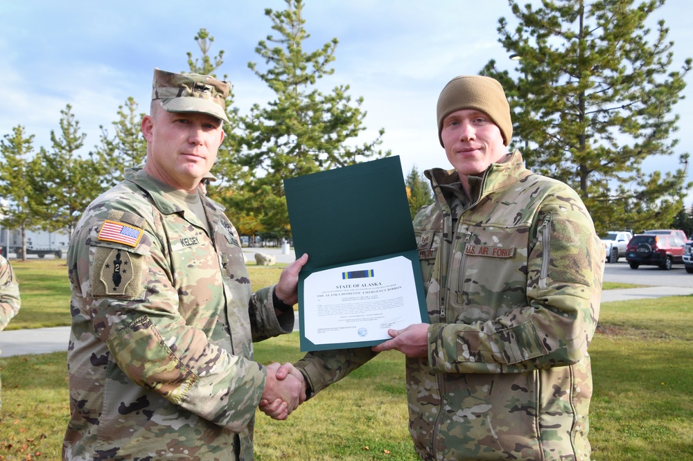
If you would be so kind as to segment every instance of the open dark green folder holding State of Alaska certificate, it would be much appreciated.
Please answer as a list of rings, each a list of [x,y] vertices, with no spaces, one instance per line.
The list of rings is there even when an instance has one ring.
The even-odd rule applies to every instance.
[[[428,321],[398,156],[285,179],[301,350],[364,347]]]

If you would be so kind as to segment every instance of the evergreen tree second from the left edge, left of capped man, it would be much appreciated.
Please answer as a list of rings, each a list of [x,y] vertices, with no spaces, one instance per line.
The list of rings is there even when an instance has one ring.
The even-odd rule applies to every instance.
[[[65,229],[72,235],[82,212],[103,190],[103,168],[91,157],[79,156],[87,134],[80,133],[71,105],[60,114],[60,136],[51,130],[53,149],[39,152],[41,170],[37,175],[45,188],[42,214],[46,230]]]

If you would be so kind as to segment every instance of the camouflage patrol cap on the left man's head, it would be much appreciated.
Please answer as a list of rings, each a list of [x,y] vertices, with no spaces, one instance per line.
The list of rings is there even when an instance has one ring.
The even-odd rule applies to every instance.
[[[229,82],[199,73],[173,73],[154,69],[152,100],[160,99],[168,112],[200,112],[229,122],[226,98]]]

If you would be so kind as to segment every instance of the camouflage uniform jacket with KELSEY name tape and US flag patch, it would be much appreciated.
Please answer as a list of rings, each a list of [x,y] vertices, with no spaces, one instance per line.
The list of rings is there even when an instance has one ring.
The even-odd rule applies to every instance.
[[[252,341],[294,316],[274,314],[273,287],[251,292],[236,229],[202,201],[211,235],[128,170],[80,219],[64,459],[252,460],[266,377]]]

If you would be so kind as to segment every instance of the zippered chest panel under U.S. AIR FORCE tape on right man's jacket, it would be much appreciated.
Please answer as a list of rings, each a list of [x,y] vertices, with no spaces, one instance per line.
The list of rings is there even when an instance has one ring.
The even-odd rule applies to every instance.
[[[527,232],[516,227],[464,226],[450,273],[456,321],[486,321],[527,302]]]

